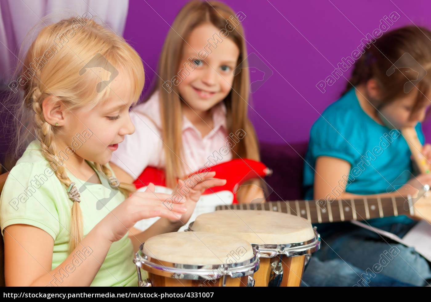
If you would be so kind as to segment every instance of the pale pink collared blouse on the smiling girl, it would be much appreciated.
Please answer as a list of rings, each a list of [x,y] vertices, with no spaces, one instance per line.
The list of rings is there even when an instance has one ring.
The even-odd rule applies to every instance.
[[[220,152],[221,148],[227,146],[228,138],[225,104],[220,102],[211,110],[214,127],[205,137],[202,137],[200,131],[183,116],[182,160],[187,174],[196,172],[204,166],[214,166],[232,159],[230,149],[227,155]],[[113,152],[111,161],[137,179],[147,166],[161,169],[166,166],[162,148],[159,92],[155,92],[147,102],[134,107],[130,111],[130,117],[135,132],[125,136],[124,142]]]

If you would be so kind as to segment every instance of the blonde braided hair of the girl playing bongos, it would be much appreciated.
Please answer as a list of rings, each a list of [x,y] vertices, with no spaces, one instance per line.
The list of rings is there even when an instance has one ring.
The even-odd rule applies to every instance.
[[[106,101],[111,92],[112,82],[100,93],[97,92],[96,87],[100,79],[109,78],[111,75],[109,68],[106,70],[98,65],[97,67],[102,67],[98,75],[94,72],[80,75],[81,68],[84,68],[98,54],[103,55],[115,68],[122,68],[128,73],[132,83],[134,103],[141,95],[145,79],[141,58],[122,37],[104,28],[92,18],[84,21],[84,23],[82,20],[77,22],[76,18],[67,18],[42,28],[26,52],[23,65],[17,68],[17,74],[23,83],[20,87],[23,95],[21,93],[16,112],[17,119],[20,121],[19,128],[16,130],[17,141],[12,162],[16,162],[22,149],[34,139],[35,133],[44,157],[66,190],[69,189],[71,180],[57,155],[59,150],[55,140],[57,133],[62,131],[62,127],[53,126],[44,119],[42,110],[44,99],[52,98],[54,101],[62,102],[71,111],[84,106],[94,108]],[[68,33],[67,37],[65,33]],[[65,38],[63,41],[66,42],[60,44],[62,38]],[[57,47],[54,46],[55,43]],[[38,68],[34,68],[34,61],[37,58],[42,60],[39,61]],[[17,77],[19,83],[20,80]],[[111,184],[118,185],[118,180],[112,178],[112,171],[106,164],[95,163],[95,166],[106,174]],[[126,198],[135,191],[133,185],[125,183],[119,184],[119,189]],[[80,200],[74,198],[71,200],[73,206],[69,253],[83,238]]]

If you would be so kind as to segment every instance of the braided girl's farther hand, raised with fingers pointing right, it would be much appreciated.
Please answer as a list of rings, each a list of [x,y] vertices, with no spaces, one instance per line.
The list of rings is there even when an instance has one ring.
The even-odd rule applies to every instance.
[[[178,203],[179,200],[185,198],[184,205],[187,212],[181,215],[180,221],[178,219],[169,219],[169,222],[184,225],[188,222],[193,214],[197,201],[202,193],[212,187],[218,187],[226,184],[226,179],[213,178],[215,172],[197,173],[185,179],[179,179],[178,184],[172,193],[173,203]]]

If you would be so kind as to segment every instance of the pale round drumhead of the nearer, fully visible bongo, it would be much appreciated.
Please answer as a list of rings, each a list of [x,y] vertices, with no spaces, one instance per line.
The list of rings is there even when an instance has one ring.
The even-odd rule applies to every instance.
[[[246,240],[206,232],[156,235],[144,242],[142,253],[160,261],[184,265],[229,265],[254,256],[253,247]]]

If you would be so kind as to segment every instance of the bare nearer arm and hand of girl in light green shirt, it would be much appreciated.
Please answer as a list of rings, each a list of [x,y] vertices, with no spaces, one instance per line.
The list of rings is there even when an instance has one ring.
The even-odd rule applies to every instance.
[[[132,194],[97,223],[66,260],[53,270],[54,240],[46,231],[25,224],[7,226],[4,230],[6,285],[89,286],[112,243],[124,237],[137,221],[159,216],[176,222],[181,213],[187,211],[185,200],[172,204],[171,210],[168,210],[162,203],[168,198],[168,194],[154,192]],[[71,265],[73,257],[77,257],[76,252],[84,247],[88,247],[91,254],[86,255],[80,265]],[[71,271],[73,267],[75,269]],[[54,274],[62,279],[61,284],[53,281]]]

